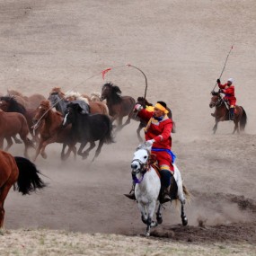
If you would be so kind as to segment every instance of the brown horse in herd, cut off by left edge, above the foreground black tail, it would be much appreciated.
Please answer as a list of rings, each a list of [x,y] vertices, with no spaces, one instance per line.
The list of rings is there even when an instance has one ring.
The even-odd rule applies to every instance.
[[[12,138],[16,134],[19,134],[24,143],[24,155],[28,157],[28,148],[30,146],[34,147],[31,140],[28,138],[29,128],[25,117],[16,112],[4,112],[0,110],[0,148],[4,146],[4,138],[7,140],[7,146],[5,151],[7,151],[12,145]]]

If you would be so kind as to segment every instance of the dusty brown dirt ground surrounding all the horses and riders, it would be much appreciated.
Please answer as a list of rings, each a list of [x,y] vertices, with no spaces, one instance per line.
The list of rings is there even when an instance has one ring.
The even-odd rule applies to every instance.
[[[49,187],[26,197],[9,193],[0,254],[255,255],[255,10],[252,0],[2,1],[0,93],[48,97],[58,86],[90,94],[111,81],[137,99],[145,78],[125,65],[141,68],[148,101],[172,109],[172,150],[193,198],[188,226],[167,206],[152,238],[139,236],[146,227],[137,203],[123,196],[138,145],[132,121],[93,163],[94,151],[86,161],[62,163],[61,146],[47,148],[47,160],[36,164]],[[248,124],[231,135],[234,124],[221,123],[213,136],[210,92],[232,45],[222,82],[234,78]]]

